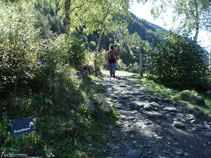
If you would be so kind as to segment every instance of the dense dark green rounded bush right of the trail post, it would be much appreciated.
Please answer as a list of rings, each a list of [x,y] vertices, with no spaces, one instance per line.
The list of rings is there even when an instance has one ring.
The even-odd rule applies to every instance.
[[[208,67],[203,49],[195,42],[170,32],[167,39],[149,53],[149,66],[160,81],[183,89],[204,88],[201,86]]]

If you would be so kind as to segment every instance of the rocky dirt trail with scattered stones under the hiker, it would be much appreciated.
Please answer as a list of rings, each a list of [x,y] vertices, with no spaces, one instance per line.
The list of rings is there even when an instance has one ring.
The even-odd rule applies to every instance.
[[[148,94],[133,75],[105,76],[121,121],[110,126],[105,158],[211,158],[211,120]],[[152,99],[153,98],[153,99]]]

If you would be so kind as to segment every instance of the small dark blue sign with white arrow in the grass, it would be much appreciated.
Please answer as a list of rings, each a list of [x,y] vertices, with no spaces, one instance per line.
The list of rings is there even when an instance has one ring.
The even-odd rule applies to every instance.
[[[21,135],[34,131],[34,120],[32,118],[24,118],[11,122],[11,129],[14,135]]]

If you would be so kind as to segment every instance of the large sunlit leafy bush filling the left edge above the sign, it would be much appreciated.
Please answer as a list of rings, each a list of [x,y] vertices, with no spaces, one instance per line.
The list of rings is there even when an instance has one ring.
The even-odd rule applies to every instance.
[[[1,99],[39,89],[48,91],[49,78],[61,63],[54,39],[40,38],[39,29],[34,27],[36,19],[29,10],[0,4]]]

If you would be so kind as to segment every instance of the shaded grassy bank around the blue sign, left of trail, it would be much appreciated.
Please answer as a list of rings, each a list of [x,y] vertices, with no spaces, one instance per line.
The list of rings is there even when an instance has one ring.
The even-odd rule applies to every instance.
[[[64,75],[64,72],[68,74]],[[16,109],[5,111],[0,120],[0,152],[28,153],[46,157],[52,152],[60,158],[100,158],[106,151],[109,125],[115,127],[118,120],[115,109],[111,114],[93,112],[83,102],[93,99],[95,93],[104,93],[105,87],[96,84],[98,78],[88,75],[79,77],[77,70],[68,68],[58,72],[50,82],[51,93],[33,93],[19,96]],[[16,137],[11,133],[9,122],[33,117],[36,130]],[[64,131],[77,127],[70,136]],[[50,150],[50,148],[53,151]]]

